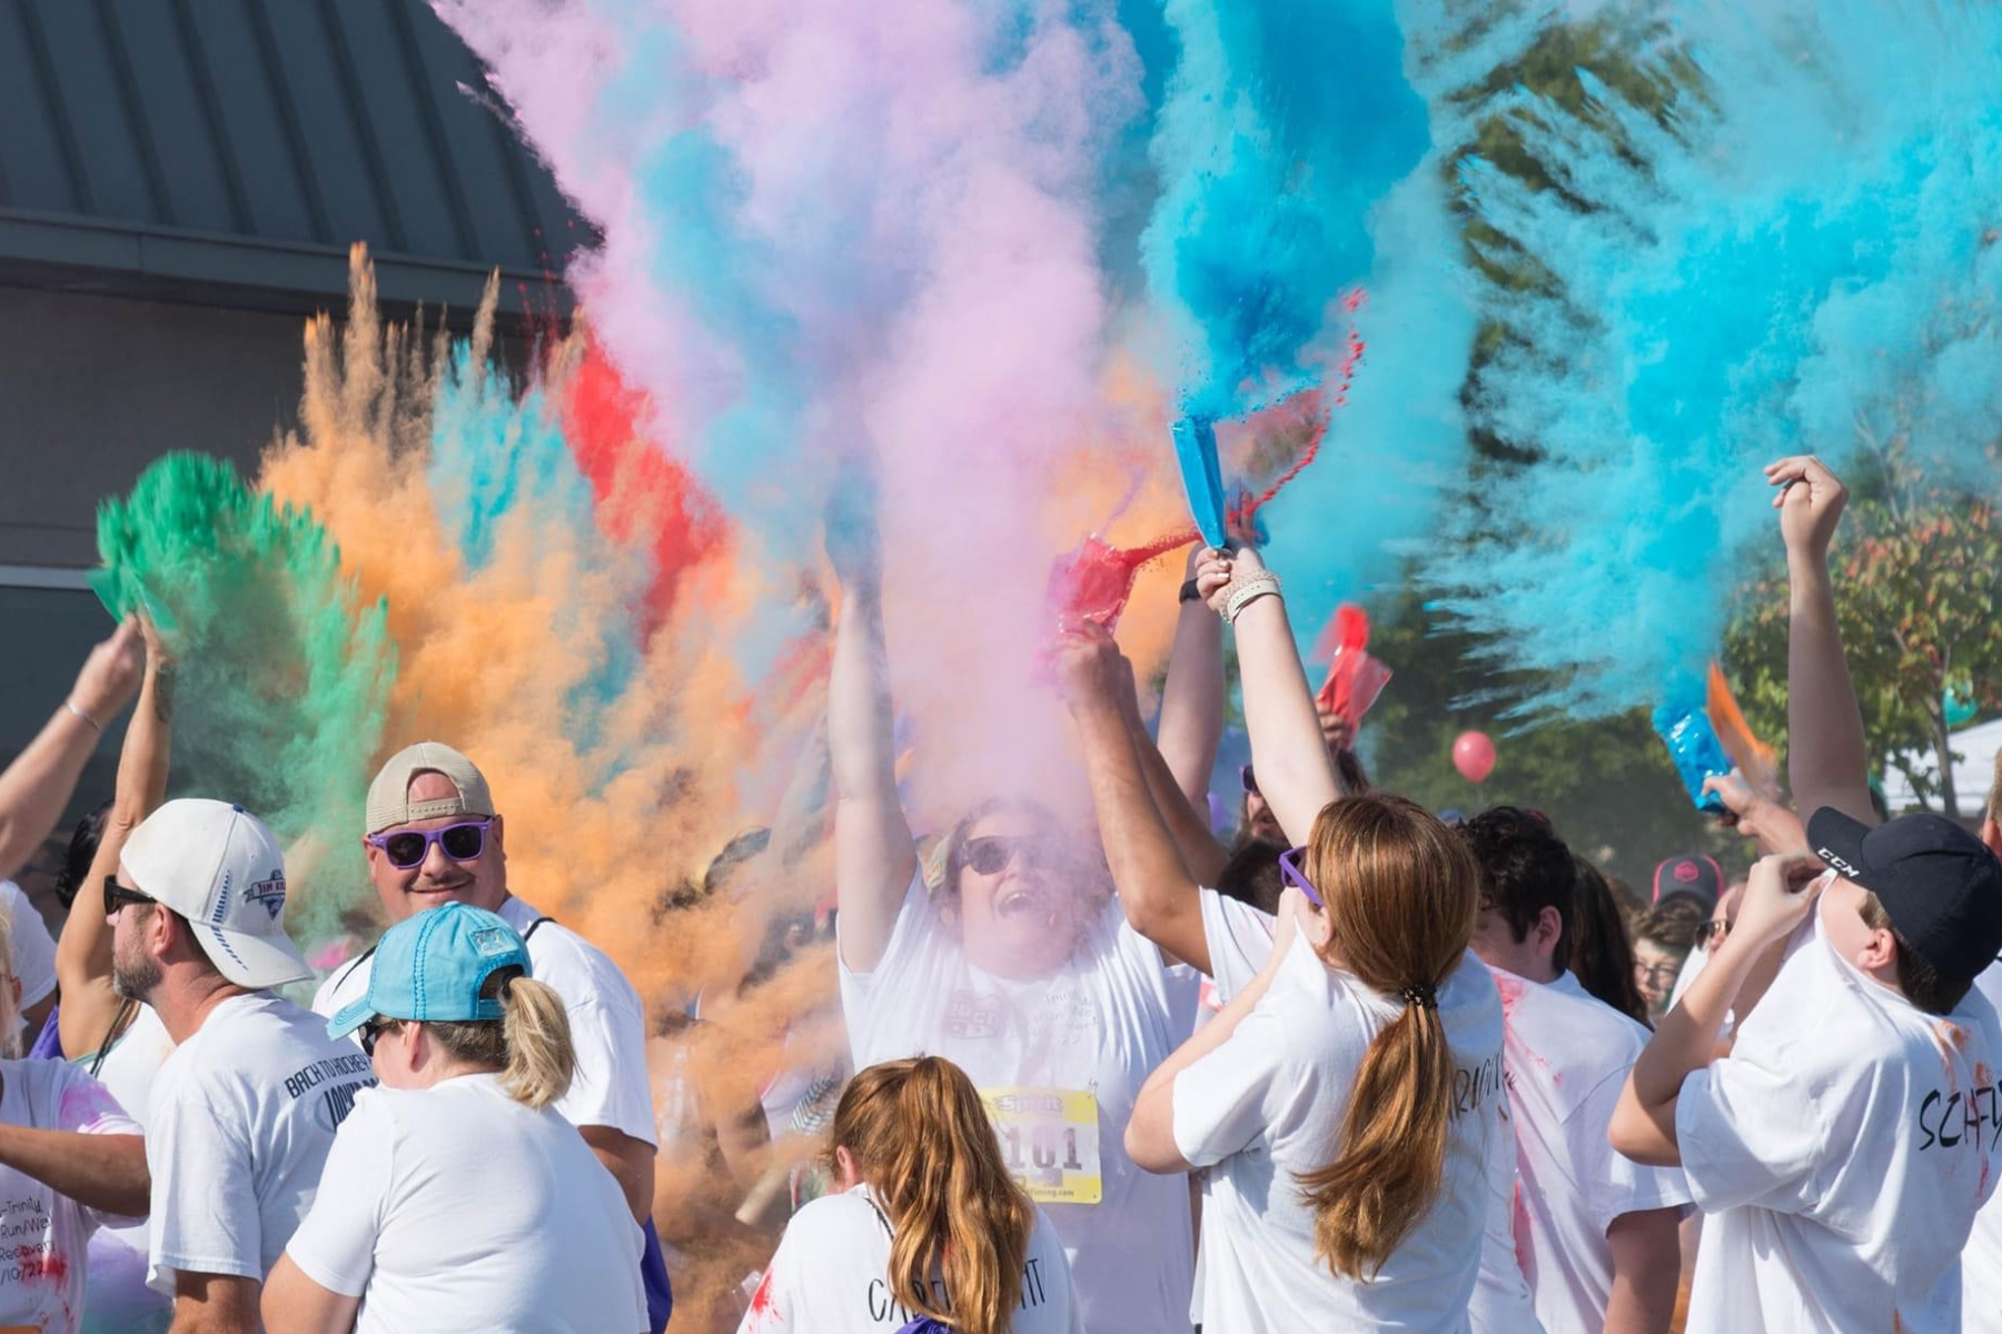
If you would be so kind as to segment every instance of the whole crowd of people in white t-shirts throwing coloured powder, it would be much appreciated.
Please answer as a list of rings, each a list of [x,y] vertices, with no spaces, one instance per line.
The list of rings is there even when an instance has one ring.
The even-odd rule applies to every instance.
[[[701,1238],[663,1246],[657,1170],[697,1154],[763,1172],[713,1224],[769,1240],[747,1334],[2002,1334],[2002,774],[1978,832],[1884,818],[1844,488],[1768,476],[1792,800],[1714,778],[1756,862],[1670,858],[1650,894],[1534,810],[1371,790],[1251,546],[1191,554],[1155,726],[1111,634],[1053,646],[1089,830],[993,794],[921,838],[881,552],[831,534],[835,904],[737,994],[831,930],[847,1052],[763,1106],[667,1096],[657,1044],[701,1006],[515,896],[494,790],[442,742],[366,792],[386,930],[288,1000],[314,970],[278,840],[228,794],[164,800],[174,664],[124,624],[0,774],[12,870],[138,700],[60,938],[0,918],[0,1036],[36,1038],[0,1060],[0,1328],[659,1332]],[[1225,630],[1253,758],[1227,840]],[[787,1132],[815,1152],[773,1170]]]

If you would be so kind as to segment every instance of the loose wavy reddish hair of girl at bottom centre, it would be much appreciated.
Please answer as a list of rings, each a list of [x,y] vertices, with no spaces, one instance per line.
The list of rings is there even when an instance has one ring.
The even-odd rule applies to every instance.
[[[857,1074],[835,1108],[845,1148],[889,1216],[891,1294],[963,1334],[1007,1334],[1021,1306],[1035,1206],[1001,1162],[973,1080],[943,1056]],[[931,1274],[945,1276],[941,1308]]]

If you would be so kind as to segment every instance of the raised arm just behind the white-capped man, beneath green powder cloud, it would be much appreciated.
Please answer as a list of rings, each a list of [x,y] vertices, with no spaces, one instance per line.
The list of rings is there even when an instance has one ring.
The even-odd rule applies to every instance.
[[[140,626],[146,642],[146,674],[138,708],[126,726],[118,752],[118,788],[104,816],[90,874],[76,890],[78,908],[62,922],[56,942],[56,980],[62,986],[58,1028],[62,1050],[82,1056],[98,1050],[118,1018],[120,998],[112,990],[112,928],[100,910],[104,876],[118,870],[126,838],[166,798],[166,766],[174,738],[174,662],[150,622]]]

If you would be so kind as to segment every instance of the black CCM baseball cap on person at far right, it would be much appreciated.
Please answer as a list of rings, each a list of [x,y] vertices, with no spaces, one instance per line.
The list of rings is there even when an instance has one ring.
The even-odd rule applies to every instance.
[[[1808,820],[1814,854],[1884,904],[1892,926],[1940,976],[1972,982],[2002,952],[2002,862],[1946,816],[1868,828],[1832,806]]]

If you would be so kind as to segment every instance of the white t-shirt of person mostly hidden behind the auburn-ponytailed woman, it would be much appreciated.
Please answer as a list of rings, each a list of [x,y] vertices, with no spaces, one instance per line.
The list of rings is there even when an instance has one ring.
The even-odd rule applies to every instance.
[[[1203,890],[1201,904],[1217,1000],[1229,1004],[1271,958],[1273,916],[1215,890]],[[1504,1148],[1487,1158],[1487,1216],[1481,1220],[1479,1276],[1465,1302],[1467,1322],[1473,1334],[1540,1334],[1544,1326],[1536,1318],[1530,1280],[1516,1262],[1516,1158],[1506,1148],[1514,1138],[1508,1098],[1493,1098],[1487,1114],[1499,1126],[1495,1142]]]

